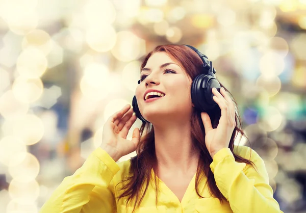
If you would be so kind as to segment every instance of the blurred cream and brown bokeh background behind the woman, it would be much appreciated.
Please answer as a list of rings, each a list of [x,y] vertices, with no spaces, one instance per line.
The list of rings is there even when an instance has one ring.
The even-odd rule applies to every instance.
[[[0,0],[0,212],[38,212],[132,104],[142,57],[171,43],[213,61],[239,145],[281,209],[306,212],[306,0]]]

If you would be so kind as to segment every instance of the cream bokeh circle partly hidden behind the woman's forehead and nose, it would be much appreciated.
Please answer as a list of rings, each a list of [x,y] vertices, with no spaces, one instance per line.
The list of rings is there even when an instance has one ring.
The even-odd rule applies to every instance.
[[[140,66],[141,63],[139,61],[132,61],[126,64],[122,70],[122,84],[133,92],[135,92],[138,85],[137,82],[140,79]]]

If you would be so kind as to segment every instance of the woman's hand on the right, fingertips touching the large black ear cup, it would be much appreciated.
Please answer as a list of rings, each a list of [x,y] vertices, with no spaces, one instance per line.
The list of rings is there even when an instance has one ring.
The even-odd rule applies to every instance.
[[[236,126],[234,101],[223,87],[220,89],[220,92],[213,88],[213,99],[221,109],[221,117],[217,128],[212,127],[211,119],[207,113],[201,113],[206,134],[205,144],[212,158],[220,149],[228,148]]]

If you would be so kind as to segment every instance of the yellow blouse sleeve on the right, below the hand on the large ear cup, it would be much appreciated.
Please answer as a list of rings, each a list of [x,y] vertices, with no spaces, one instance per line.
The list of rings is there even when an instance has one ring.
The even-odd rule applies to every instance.
[[[251,149],[245,148],[248,148],[245,156],[250,156]],[[218,189],[234,213],[283,213],[273,198],[263,159],[251,150],[250,160],[256,165],[257,171],[251,165],[236,162],[229,148],[219,150],[210,165]]]

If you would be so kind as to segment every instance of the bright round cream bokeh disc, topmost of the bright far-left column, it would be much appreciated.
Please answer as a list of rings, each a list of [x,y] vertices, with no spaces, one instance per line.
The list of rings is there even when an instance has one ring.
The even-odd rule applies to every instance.
[[[18,57],[16,67],[19,74],[25,77],[40,77],[47,68],[47,59],[42,51],[27,48]]]

